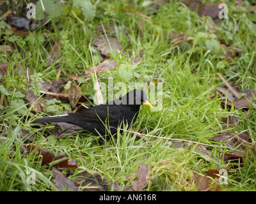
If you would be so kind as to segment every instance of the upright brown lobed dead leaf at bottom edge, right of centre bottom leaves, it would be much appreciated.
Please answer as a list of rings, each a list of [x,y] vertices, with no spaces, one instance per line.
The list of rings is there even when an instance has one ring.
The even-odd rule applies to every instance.
[[[132,189],[134,191],[142,191],[147,183],[147,175],[148,175],[147,164],[140,164],[137,170],[138,180],[132,180]]]

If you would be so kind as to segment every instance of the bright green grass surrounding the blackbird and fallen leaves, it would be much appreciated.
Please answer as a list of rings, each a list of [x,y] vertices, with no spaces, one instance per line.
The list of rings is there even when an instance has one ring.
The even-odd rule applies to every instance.
[[[228,110],[220,105],[220,99],[211,99],[215,88],[221,84],[220,78],[214,73],[221,73],[241,89],[256,89],[255,45],[252,46],[255,34],[248,29],[248,25],[255,24],[255,21],[253,22],[250,13],[236,8],[234,2],[227,4],[230,10],[228,20],[224,19],[220,26],[213,29],[210,26],[211,19],[198,17],[180,1],[171,1],[160,6],[157,14],[150,15],[150,18],[124,11],[122,8],[129,7],[126,1],[106,1],[100,2],[97,7],[99,15],[88,24],[81,17],[70,13],[65,18],[57,19],[58,23],[51,20],[54,27],[52,31],[42,27],[27,36],[6,31],[6,36],[1,37],[1,44],[4,45],[6,40],[13,41],[19,45],[20,52],[1,52],[1,63],[8,64],[12,71],[15,64],[21,64],[24,68],[32,69],[35,76],[28,85],[26,77],[31,78],[28,71],[24,75],[15,75],[10,71],[0,81],[5,88],[5,91],[1,89],[5,110],[1,110],[0,126],[8,129],[6,137],[3,136],[4,131],[0,135],[2,140],[6,139],[0,143],[1,191],[56,190],[52,182],[54,176],[51,168],[42,165],[36,159],[35,152],[31,152],[28,157],[20,152],[22,144],[25,143],[20,137],[22,130],[35,134],[32,143],[49,149],[56,155],[65,154],[78,161],[81,168],[75,170],[70,179],[84,170],[96,171],[109,183],[120,182],[124,186],[131,186],[131,180],[136,178],[138,165],[143,163],[148,164],[150,169],[146,191],[196,191],[193,172],[204,173],[211,169],[227,168],[232,164],[218,161],[225,148],[220,143],[211,142],[211,138],[223,131],[222,118],[235,115],[243,118],[243,124],[231,131],[236,134],[248,131],[250,141],[254,143],[255,107],[252,105],[249,108],[251,117],[246,119],[244,110]],[[131,8],[145,15],[150,9],[149,6],[143,6],[142,2],[133,4]],[[140,57],[141,50],[143,61],[132,64],[132,77],[129,82],[147,82],[157,75],[163,82],[162,110],[150,112],[148,107],[141,106],[140,115],[134,125],[134,131],[143,131],[159,138],[143,136],[137,140],[136,135],[124,131],[123,134],[118,133],[116,137],[111,137],[108,142],[99,145],[97,137],[88,132],[57,139],[52,135],[52,124],[38,129],[31,123],[36,117],[45,115],[45,112],[35,112],[23,100],[26,98],[26,88],[29,86],[39,98],[37,84],[42,78],[47,82],[54,80],[60,68],[61,77],[68,78],[69,75],[81,74],[84,69],[91,67],[88,43],[92,45],[95,41],[97,25],[104,25],[108,36],[116,33],[116,38],[124,47],[122,52],[111,54],[111,60],[117,61],[118,67],[99,74],[101,82],[108,84],[108,78],[113,77],[114,84],[127,84],[125,76],[118,72],[118,68],[122,64],[131,64],[132,59]],[[106,25],[115,25],[115,31],[109,32]],[[238,31],[234,29],[235,26]],[[187,47],[170,46],[172,42],[166,36],[173,31],[186,34],[191,43]],[[61,60],[49,68],[50,65],[46,63],[49,50],[52,50],[53,42],[60,38]],[[212,38],[221,39],[230,47],[242,49],[243,52],[227,61],[220,52],[211,52],[205,45],[205,41]],[[99,64],[102,56],[97,48],[92,48],[92,52],[95,64]],[[42,73],[42,76],[36,73]],[[84,94],[91,94],[89,99],[92,100],[93,80],[86,80],[81,87]],[[204,154],[188,148],[175,149],[171,147],[168,138],[208,144],[205,147],[216,159],[205,161],[202,159]],[[228,171],[228,184],[221,186],[222,191],[255,191],[256,166],[250,162],[252,157],[255,157],[252,150],[248,150],[245,159],[247,165],[238,164],[238,168]],[[27,171],[31,168],[36,171],[36,183],[30,185],[27,182]],[[212,190],[219,185],[218,179],[211,179],[210,182]]]

